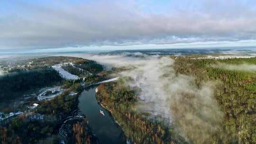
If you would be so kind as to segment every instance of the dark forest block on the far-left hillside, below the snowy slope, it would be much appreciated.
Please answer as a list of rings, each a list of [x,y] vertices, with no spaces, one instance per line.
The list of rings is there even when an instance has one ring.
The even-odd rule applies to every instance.
[[[60,81],[59,73],[52,68],[8,73],[0,76],[0,100],[13,99],[23,91],[51,86]]]

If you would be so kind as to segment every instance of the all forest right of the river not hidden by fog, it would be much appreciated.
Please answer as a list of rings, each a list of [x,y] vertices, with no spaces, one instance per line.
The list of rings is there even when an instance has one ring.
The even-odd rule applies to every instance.
[[[176,75],[192,76],[197,89],[200,90],[205,83],[213,85],[213,97],[217,100],[217,105],[224,117],[217,122],[209,119],[208,123],[216,125],[215,128],[219,130],[209,132],[209,137],[204,141],[196,140],[197,137],[192,133],[186,138],[181,136],[180,131],[176,129],[182,127],[179,120],[170,125],[161,118],[149,118],[149,113],[137,112],[135,105],[140,90],[131,88],[126,83],[127,80],[101,84],[98,87],[97,99],[119,122],[128,139],[136,144],[256,144],[256,72],[213,67],[219,63],[256,64],[256,58],[177,57],[173,65]],[[180,103],[192,101],[196,97],[189,93],[182,93],[182,95]],[[189,111],[194,115],[202,117],[198,113],[200,105],[195,103],[194,106],[186,106],[183,109],[190,108]],[[181,116],[179,118],[185,117],[179,114],[179,111],[175,111],[175,108],[174,113]],[[207,119],[207,117],[204,118]],[[192,121],[185,121],[185,123],[189,125],[188,129],[198,129],[198,134],[206,132],[203,130],[203,124],[198,125]]]

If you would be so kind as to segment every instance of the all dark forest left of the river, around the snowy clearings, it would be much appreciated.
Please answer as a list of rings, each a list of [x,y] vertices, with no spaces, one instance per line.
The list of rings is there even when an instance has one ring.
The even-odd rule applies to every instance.
[[[10,72],[0,77],[0,100],[15,99],[23,96],[23,92],[26,93],[27,90],[38,90],[46,86],[61,85],[64,90],[54,99],[31,101],[30,105],[37,103],[39,106],[29,109],[17,117],[0,121],[0,144],[35,144],[46,137],[59,133],[60,126],[63,125],[67,117],[71,117],[74,112],[77,112],[78,96],[83,90],[82,80],[64,80],[50,65],[60,62],[76,63],[77,61],[84,63],[85,66],[87,60],[64,56],[27,60],[32,63],[31,69],[18,69],[17,72]],[[23,61],[22,63],[27,62]],[[98,65],[97,63],[93,64]],[[90,66],[93,67],[93,64]],[[69,64],[64,65],[63,68],[74,74],[80,72],[79,76],[90,74]],[[101,72],[101,69],[95,66],[92,72]],[[96,76],[96,74],[94,75]],[[93,134],[86,118],[75,118],[68,121],[65,126],[68,143],[97,144],[98,139]],[[56,144],[59,142],[56,141]]]

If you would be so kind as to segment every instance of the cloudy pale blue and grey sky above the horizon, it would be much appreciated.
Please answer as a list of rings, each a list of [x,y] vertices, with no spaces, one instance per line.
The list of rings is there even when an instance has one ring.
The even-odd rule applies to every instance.
[[[256,45],[256,0],[0,0],[0,51]]]

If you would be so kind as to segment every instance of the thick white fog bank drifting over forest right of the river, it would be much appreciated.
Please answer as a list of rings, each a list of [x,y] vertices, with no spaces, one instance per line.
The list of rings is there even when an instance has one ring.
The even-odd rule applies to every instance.
[[[136,110],[165,118],[188,141],[201,144],[222,133],[223,113],[213,97],[216,84],[204,83],[198,88],[192,76],[175,73],[174,60],[170,57],[141,53],[80,56],[108,68],[128,68],[119,76],[132,77],[135,81],[129,85],[142,90]]]

